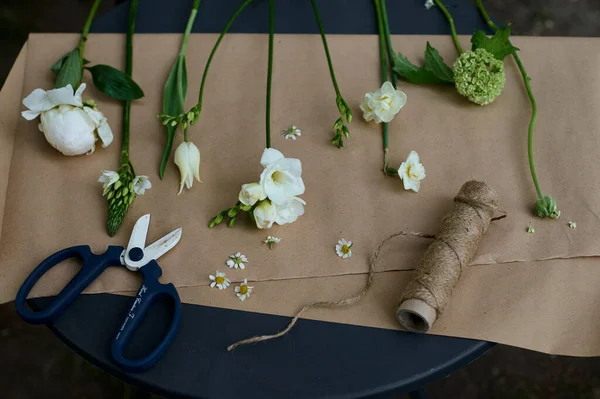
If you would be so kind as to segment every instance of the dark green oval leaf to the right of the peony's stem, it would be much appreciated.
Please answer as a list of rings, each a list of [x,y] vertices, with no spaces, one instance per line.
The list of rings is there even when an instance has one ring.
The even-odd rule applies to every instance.
[[[117,100],[131,101],[144,97],[144,92],[124,72],[108,65],[86,67],[92,73],[94,85],[102,93]]]

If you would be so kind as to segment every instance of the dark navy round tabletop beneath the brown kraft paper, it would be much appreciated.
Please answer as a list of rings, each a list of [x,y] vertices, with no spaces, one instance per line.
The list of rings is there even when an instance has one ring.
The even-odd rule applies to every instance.
[[[460,33],[471,34],[473,29],[484,29],[468,0],[453,2],[449,7]],[[136,31],[182,33],[191,3],[192,0],[141,1]],[[241,0],[203,0],[194,32],[220,32],[240,3]],[[435,9],[427,11],[424,0],[389,0],[387,3],[393,34],[449,33],[441,13]],[[124,32],[128,6],[125,2],[99,18],[92,31]],[[251,3],[231,32],[267,33],[267,6],[265,0]],[[318,33],[308,0],[282,0],[275,6],[276,33]],[[377,32],[372,0],[321,0],[319,6],[327,33]],[[450,45],[450,38],[448,40]],[[30,303],[34,308],[43,308],[50,300],[41,298]],[[130,297],[84,295],[49,327],[67,345],[103,370],[169,398],[393,397],[418,391],[465,366],[493,345],[301,320],[284,338],[229,353],[225,350],[228,344],[251,334],[278,331],[287,325],[289,318],[184,304],[181,329],[166,355],[154,368],[129,374],[112,363],[110,343],[130,305]],[[144,320],[127,354],[135,357],[145,353],[160,340],[168,320],[168,307],[156,306]]]

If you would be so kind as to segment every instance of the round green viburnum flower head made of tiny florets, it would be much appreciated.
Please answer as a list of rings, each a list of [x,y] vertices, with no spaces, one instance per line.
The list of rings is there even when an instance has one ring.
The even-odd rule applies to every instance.
[[[466,51],[454,62],[454,81],[461,95],[487,105],[504,89],[504,63],[482,48]]]

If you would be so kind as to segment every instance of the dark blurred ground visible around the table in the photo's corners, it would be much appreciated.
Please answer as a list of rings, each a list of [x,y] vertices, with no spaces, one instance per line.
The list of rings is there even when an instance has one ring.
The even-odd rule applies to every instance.
[[[2,84],[29,32],[79,31],[92,0],[0,3]],[[103,1],[98,15],[117,3]],[[452,0],[447,3],[451,6]],[[485,4],[498,21],[512,22],[517,35],[600,36],[600,0],[487,0]],[[549,356],[497,345],[428,390],[436,399],[600,399],[600,358]],[[144,396],[87,363],[45,327],[22,322],[12,303],[0,305],[0,398]]]

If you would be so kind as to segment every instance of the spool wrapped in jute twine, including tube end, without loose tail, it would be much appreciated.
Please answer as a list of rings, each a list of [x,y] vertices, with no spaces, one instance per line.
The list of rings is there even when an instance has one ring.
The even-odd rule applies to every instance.
[[[498,195],[487,184],[469,181],[454,198],[442,229],[421,257],[396,318],[409,331],[427,332],[444,312],[463,271],[473,260],[493,214]]]

